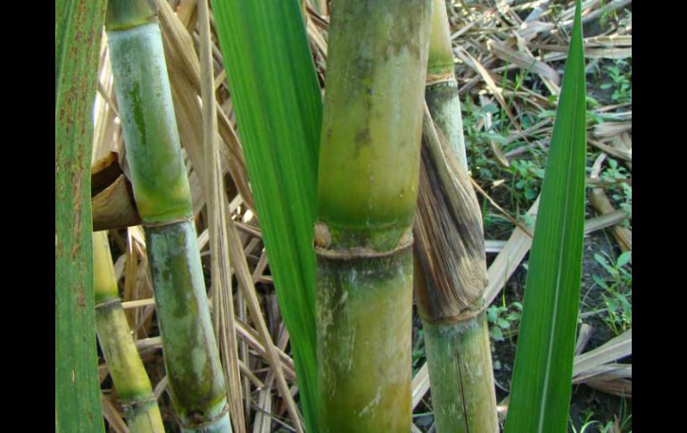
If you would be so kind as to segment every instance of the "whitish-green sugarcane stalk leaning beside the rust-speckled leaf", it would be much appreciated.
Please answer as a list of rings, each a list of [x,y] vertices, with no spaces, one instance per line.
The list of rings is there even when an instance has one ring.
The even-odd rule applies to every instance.
[[[145,0],[111,0],[105,26],[172,405],[182,431],[231,431],[160,28]]]

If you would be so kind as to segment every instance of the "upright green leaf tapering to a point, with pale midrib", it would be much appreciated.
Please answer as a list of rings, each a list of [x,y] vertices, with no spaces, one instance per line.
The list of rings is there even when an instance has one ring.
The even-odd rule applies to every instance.
[[[564,432],[567,427],[584,233],[580,11],[577,0],[527,273],[507,432]]]

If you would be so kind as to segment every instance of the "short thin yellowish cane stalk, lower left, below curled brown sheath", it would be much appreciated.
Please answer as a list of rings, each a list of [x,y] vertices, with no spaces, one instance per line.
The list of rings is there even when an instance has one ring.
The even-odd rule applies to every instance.
[[[164,433],[150,379],[121,307],[107,232],[93,233],[95,328],[112,382],[132,433]]]

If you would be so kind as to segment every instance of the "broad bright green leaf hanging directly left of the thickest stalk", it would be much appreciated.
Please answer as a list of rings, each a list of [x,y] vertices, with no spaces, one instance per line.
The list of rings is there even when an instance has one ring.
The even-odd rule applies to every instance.
[[[297,0],[212,5],[305,424],[315,432],[312,237],[322,101],[301,8]]]

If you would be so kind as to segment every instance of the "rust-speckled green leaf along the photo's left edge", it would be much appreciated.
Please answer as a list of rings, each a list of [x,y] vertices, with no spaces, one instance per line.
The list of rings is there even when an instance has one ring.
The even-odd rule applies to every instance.
[[[103,431],[93,301],[91,122],[103,0],[55,2],[55,431]]]

